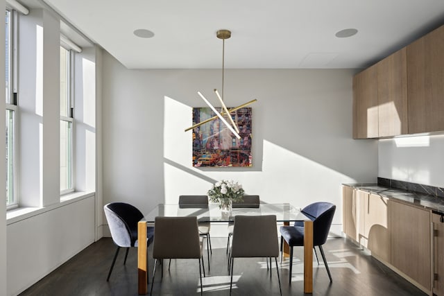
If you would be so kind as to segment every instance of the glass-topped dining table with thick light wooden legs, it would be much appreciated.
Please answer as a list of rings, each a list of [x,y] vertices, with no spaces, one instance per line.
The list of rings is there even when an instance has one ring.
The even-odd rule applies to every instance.
[[[254,207],[253,207],[254,206]],[[180,217],[196,216],[198,222],[233,223],[237,215],[264,216],[275,215],[278,223],[289,225],[291,222],[302,221],[304,223],[304,293],[313,293],[313,221],[299,208],[289,203],[268,204],[259,206],[234,208],[232,211],[222,211],[218,204],[157,204],[139,220],[137,225],[137,269],[139,295],[148,292],[148,264],[147,264],[147,223],[154,225],[155,217]],[[155,226],[155,225],[154,225]],[[276,238],[278,239],[278,238]],[[289,247],[284,245],[284,254],[289,256]],[[284,256],[282,254],[282,256]]]

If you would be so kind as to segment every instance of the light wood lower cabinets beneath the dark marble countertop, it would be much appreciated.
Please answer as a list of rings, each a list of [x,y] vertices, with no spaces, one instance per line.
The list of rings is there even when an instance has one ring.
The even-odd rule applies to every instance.
[[[343,186],[343,232],[425,293],[444,296],[444,214]]]

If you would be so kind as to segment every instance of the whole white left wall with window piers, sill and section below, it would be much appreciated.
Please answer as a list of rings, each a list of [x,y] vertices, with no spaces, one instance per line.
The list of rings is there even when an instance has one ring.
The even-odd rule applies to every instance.
[[[103,224],[102,202],[97,204],[95,198],[95,191],[100,191],[96,109],[101,108],[97,98],[101,93],[96,90],[96,67],[100,67],[96,58],[101,60],[101,50],[84,47],[76,54],[76,192],[60,196],[60,19],[49,10],[31,9],[29,15],[19,16],[19,23],[19,207],[7,212],[5,204],[1,208],[6,224],[0,229],[1,244],[5,242],[0,251],[7,260],[1,264],[0,257],[0,275],[5,268],[0,295],[18,295],[35,284],[100,238]],[[4,171],[0,170],[0,179]],[[1,188],[5,190],[4,184]]]

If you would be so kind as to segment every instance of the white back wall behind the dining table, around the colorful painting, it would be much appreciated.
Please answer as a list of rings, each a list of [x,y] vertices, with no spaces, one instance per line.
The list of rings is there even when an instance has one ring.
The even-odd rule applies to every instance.
[[[103,55],[103,202],[148,211],[222,178],[263,202],[334,202],[341,183],[376,182],[377,141],[352,139],[352,74],[340,70],[225,70],[225,103],[253,98],[253,168],[193,168],[191,107],[216,103],[221,70],[128,70]]]

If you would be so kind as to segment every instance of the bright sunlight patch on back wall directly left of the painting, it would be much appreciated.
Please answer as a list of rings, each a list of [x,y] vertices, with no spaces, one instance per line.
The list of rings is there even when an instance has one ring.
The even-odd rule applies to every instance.
[[[187,168],[192,164],[193,140],[191,131],[185,132],[185,128],[192,125],[192,110],[192,107],[164,96],[164,157]],[[148,110],[148,114],[150,112],[155,110]]]

